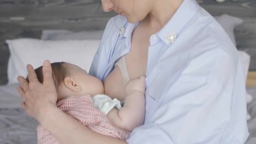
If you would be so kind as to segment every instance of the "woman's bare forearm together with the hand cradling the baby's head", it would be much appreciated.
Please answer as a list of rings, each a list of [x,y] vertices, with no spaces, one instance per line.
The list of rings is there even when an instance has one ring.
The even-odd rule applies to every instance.
[[[29,83],[19,76],[21,107],[34,117],[61,144],[121,144],[119,139],[104,136],[85,127],[56,107],[57,93],[53,83],[50,61],[43,64],[43,84],[37,80],[35,70],[27,66]]]

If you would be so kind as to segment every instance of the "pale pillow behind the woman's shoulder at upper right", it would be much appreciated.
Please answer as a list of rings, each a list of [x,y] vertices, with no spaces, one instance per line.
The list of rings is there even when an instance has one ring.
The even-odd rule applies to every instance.
[[[237,43],[235,41],[234,29],[240,24],[243,24],[243,19],[240,19],[235,16],[230,16],[228,14],[222,14],[221,16],[214,16],[214,18],[216,19],[216,21],[219,22],[219,24],[223,27],[225,32],[229,35],[234,45],[237,46]]]

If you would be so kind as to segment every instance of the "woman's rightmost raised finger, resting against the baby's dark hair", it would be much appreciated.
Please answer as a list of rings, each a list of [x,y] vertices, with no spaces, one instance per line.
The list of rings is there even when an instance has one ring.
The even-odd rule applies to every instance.
[[[54,85],[52,77],[51,62],[45,60],[43,62],[43,85]]]

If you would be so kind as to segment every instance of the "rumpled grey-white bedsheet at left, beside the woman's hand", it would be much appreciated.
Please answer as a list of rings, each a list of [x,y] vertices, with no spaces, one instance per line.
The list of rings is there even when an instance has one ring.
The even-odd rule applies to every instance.
[[[37,143],[38,123],[21,109],[18,85],[0,85],[0,144]]]

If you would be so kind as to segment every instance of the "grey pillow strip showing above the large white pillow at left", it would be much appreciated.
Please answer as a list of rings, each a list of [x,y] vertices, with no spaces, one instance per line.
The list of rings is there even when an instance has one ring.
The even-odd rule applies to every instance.
[[[42,40],[101,40],[104,30],[72,32],[69,30],[43,30]]]

